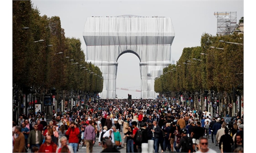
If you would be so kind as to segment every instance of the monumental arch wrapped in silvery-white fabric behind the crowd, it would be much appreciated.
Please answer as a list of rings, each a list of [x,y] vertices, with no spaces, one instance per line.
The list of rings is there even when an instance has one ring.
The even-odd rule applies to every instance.
[[[170,17],[88,17],[83,39],[87,62],[98,66],[104,79],[99,96],[116,98],[117,60],[122,54],[133,53],[140,60],[141,98],[157,97],[154,81],[172,64],[174,37]]]

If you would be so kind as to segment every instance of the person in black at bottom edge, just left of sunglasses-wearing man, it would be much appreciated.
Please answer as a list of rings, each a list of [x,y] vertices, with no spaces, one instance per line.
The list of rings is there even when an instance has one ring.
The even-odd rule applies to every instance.
[[[180,143],[175,146],[175,149],[178,150],[181,148],[180,152],[193,152],[193,142],[192,139],[187,136],[187,130],[185,128],[180,130],[182,138]]]

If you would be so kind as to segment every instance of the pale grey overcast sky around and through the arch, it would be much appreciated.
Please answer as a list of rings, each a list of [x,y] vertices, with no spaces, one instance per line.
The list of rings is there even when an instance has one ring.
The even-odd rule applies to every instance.
[[[83,29],[91,16],[165,16],[172,18],[175,38],[172,44],[172,60],[178,61],[184,47],[200,45],[203,33],[216,35],[217,18],[214,12],[237,12],[237,22],[244,16],[243,1],[32,1],[41,15],[59,16],[66,37],[81,40],[86,50]],[[139,59],[131,53],[118,59],[117,88],[140,90]],[[117,89],[118,97],[127,94],[140,97],[140,92]]]

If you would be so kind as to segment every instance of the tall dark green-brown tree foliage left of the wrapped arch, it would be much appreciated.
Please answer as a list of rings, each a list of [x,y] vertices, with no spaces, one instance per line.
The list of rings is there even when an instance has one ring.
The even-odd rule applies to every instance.
[[[13,85],[99,93],[102,73],[84,59],[81,41],[65,37],[58,16],[40,16],[31,1],[13,1]]]

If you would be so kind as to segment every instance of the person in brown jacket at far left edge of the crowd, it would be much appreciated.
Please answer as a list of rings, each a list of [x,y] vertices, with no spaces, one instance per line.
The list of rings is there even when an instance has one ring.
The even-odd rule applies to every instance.
[[[24,122],[22,122],[23,124]],[[25,136],[22,133],[22,127],[16,126],[14,133],[17,134],[17,138],[14,140],[13,152],[26,152],[25,150]]]

